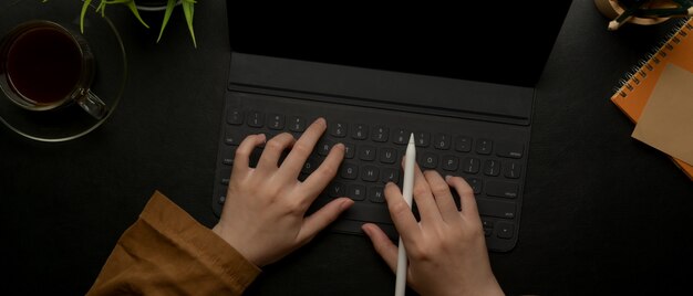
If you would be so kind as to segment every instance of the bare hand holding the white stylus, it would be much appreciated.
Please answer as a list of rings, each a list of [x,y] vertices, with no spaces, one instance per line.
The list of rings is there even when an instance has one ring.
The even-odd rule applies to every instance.
[[[408,285],[421,295],[504,295],[488,261],[482,220],[469,184],[461,177],[443,179],[436,171],[415,169],[413,195],[421,221],[416,221],[394,183],[385,187],[392,221],[402,237],[408,267]],[[453,200],[453,187],[462,211]],[[393,272],[397,246],[375,224],[363,231]]]

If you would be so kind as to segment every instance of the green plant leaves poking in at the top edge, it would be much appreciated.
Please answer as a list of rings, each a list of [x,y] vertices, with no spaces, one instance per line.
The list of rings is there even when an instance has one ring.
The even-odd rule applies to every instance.
[[[48,1],[48,0],[46,0]],[[106,7],[108,4],[124,4],[133,12],[135,18],[145,27],[149,28],[149,25],[139,17],[139,10],[158,10],[161,7],[162,10],[165,8],[164,12],[164,21],[162,22],[162,29],[158,33],[158,38],[156,42],[162,39],[164,34],[164,29],[168,23],[168,19],[174,11],[176,6],[180,6],[183,8],[183,13],[185,14],[185,20],[188,24],[188,30],[190,31],[190,38],[193,39],[193,45],[197,47],[197,41],[195,40],[195,31],[193,30],[193,15],[195,12],[195,0],[84,0],[84,4],[82,6],[82,12],[80,14],[80,30],[84,32],[84,14],[89,9],[92,1],[100,1],[96,6],[96,12],[101,12],[102,15],[105,15]]]

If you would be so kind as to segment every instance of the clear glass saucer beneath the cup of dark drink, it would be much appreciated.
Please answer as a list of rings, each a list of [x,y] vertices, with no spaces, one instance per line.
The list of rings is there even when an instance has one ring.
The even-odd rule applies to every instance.
[[[3,1],[4,2],[4,1]],[[82,1],[24,0],[0,4],[0,34],[30,20],[48,20],[60,23],[73,32],[80,32]],[[116,109],[125,89],[127,62],[125,49],[113,23],[90,7],[84,15],[82,34],[96,61],[91,91],[108,108],[102,119],[90,116],[77,104],[52,110],[33,112],[14,105],[0,92],[0,121],[17,134],[39,141],[64,141],[84,136],[105,123]]]

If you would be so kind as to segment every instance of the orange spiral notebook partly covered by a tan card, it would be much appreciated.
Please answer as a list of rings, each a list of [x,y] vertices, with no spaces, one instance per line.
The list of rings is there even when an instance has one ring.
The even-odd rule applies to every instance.
[[[693,19],[682,21],[669,39],[651,56],[638,64],[623,85],[611,96],[628,117],[638,123],[656,81],[668,63],[693,72]],[[693,180],[693,163],[671,157],[685,175]]]

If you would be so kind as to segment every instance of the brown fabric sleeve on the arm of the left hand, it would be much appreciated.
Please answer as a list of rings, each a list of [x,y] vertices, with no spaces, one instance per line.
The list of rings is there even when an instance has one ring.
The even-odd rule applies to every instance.
[[[241,295],[260,269],[158,191],[87,295]]]

